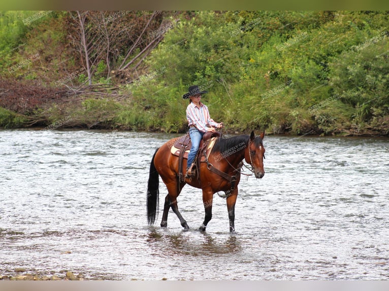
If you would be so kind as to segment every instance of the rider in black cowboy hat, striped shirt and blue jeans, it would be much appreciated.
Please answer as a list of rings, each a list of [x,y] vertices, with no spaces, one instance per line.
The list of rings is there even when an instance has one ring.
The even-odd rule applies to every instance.
[[[217,123],[211,119],[208,107],[200,101],[201,95],[208,93],[207,91],[200,91],[199,86],[193,85],[189,87],[189,92],[182,95],[182,98],[189,98],[189,105],[186,107],[186,119],[189,125],[189,136],[192,141],[190,148],[186,175],[185,178],[191,176],[191,171],[195,162],[195,156],[199,150],[200,141],[207,131],[215,131],[216,128],[223,127],[223,123]]]

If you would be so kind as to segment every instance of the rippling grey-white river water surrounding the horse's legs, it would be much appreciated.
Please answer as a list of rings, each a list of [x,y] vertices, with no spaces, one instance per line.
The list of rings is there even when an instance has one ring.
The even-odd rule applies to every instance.
[[[177,135],[0,131],[0,275],[86,279],[389,279],[389,140],[266,136],[263,179],[242,177],[235,234],[201,191],[147,226],[154,150]],[[160,202],[167,191],[160,184]],[[163,203],[160,203],[160,207]]]

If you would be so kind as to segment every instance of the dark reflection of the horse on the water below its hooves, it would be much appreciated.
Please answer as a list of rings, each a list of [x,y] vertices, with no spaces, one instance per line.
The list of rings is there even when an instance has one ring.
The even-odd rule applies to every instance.
[[[198,230],[170,232],[150,228],[146,239],[154,251],[168,256],[211,256],[239,252],[241,242],[236,234],[215,234]]]

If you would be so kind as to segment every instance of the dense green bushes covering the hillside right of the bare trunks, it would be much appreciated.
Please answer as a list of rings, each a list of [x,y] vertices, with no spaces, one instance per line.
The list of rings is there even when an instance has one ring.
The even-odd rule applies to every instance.
[[[189,85],[212,82],[203,101],[236,130],[330,133],[369,122],[373,110],[388,115],[386,20],[386,13],[343,11],[198,12],[167,33],[148,59],[166,73],[134,96],[168,112]],[[158,97],[169,91],[177,93]]]

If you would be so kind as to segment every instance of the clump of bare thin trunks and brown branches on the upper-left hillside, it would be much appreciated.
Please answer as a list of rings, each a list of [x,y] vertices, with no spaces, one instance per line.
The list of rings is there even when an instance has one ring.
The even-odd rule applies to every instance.
[[[76,11],[71,16],[71,45],[86,69],[89,85],[96,73],[103,74],[102,68],[106,79],[115,71],[132,75],[166,32],[158,30],[167,22],[160,11]]]

